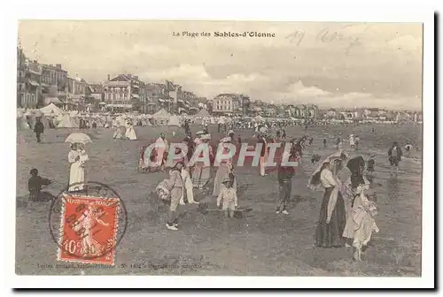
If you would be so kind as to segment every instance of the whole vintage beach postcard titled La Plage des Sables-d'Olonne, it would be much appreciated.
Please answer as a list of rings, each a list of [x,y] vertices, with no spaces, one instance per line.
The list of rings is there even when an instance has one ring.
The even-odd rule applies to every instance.
[[[423,276],[423,23],[18,30],[18,276]]]

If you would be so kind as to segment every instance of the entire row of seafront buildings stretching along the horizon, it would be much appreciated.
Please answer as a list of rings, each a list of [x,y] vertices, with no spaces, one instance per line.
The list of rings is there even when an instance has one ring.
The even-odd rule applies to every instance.
[[[212,100],[199,97],[182,86],[165,83],[146,83],[129,73],[111,77],[100,84],[89,84],[79,77],[70,77],[62,65],[44,65],[28,59],[17,50],[17,105],[39,108],[55,103],[66,110],[137,110],[154,113],[160,109],[177,114],[197,113],[206,109],[214,115],[262,116],[265,118],[344,119],[358,121],[411,120],[422,121],[416,111],[385,109],[329,109],[320,110],[315,104],[284,104],[253,101],[244,94],[219,94]]]

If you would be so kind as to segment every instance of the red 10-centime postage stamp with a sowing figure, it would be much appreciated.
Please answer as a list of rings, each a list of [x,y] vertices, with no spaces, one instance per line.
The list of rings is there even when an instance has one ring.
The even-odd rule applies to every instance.
[[[119,199],[66,194],[62,205],[58,261],[113,265]]]

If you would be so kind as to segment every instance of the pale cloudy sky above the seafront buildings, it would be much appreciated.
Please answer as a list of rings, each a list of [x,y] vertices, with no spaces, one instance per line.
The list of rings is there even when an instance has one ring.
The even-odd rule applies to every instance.
[[[243,93],[320,108],[421,110],[422,30],[419,23],[26,20],[19,42],[27,57],[62,64],[89,83],[132,73],[208,99]]]

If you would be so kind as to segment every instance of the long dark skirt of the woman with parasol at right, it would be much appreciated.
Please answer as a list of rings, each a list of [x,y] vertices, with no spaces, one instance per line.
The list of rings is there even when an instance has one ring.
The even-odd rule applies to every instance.
[[[340,192],[338,192],[337,204],[332,211],[330,223],[326,223],[332,189],[333,187],[329,187],[324,191],[322,209],[320,209],[320,217],[315,229],[315,245],[317,247],[341,247],[345,242],[342,234],[346,225],[346,209]]]

